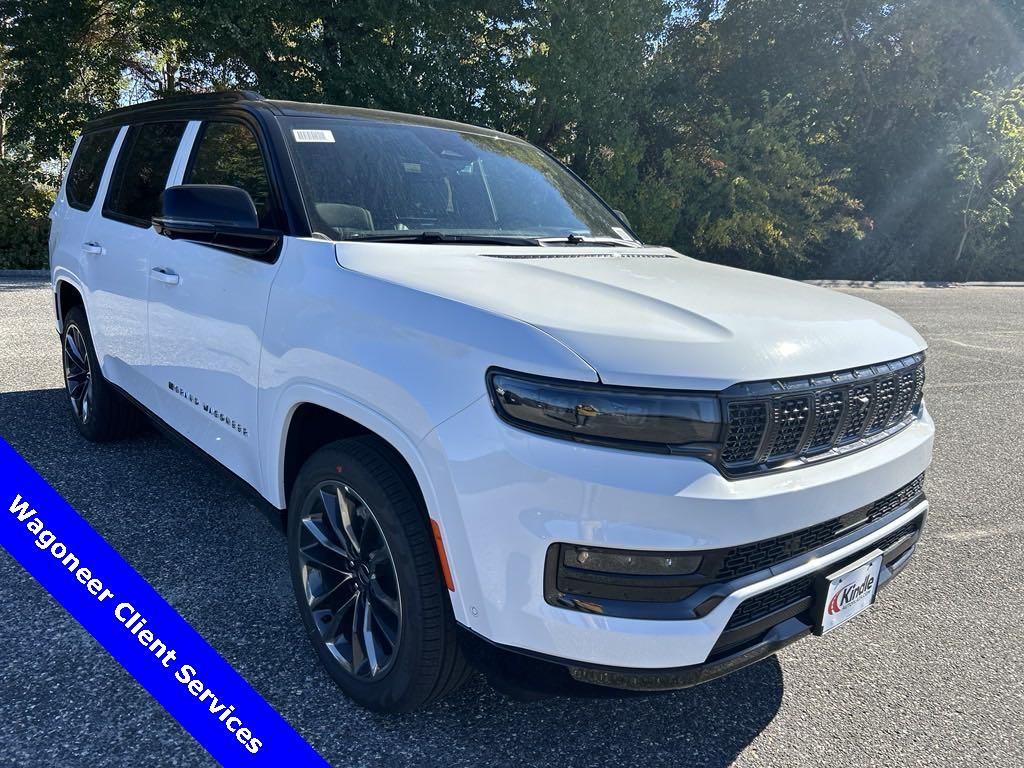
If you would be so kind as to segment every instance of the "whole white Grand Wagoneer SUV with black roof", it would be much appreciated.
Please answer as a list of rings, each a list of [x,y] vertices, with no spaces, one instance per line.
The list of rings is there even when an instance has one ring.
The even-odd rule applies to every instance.
[[[287,515],[377,710],[702,682],[869,606],[924,525],[925,342],[642,245],[513,136],[251,92],[109,113],[50,258],[89,439],[145,414]]]

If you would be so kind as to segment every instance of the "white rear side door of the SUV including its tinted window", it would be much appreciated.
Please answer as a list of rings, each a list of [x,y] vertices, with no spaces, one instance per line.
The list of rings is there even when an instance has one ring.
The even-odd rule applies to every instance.
[[[150,404],[146,295],[150,258],[162,240],[151,219],[159,210],[187,123],[154,122],[124,129],[102,211],[89,224],[92,291],[89,327],[103,376]]]

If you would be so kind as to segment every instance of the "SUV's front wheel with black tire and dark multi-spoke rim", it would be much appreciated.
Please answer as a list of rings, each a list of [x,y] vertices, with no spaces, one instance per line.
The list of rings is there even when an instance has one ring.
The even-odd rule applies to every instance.
[[[289,504],[306,634],[338,686],[377,712],[421,709],[469,676],[413,483],[386,443],[352,437],[309,458]]]

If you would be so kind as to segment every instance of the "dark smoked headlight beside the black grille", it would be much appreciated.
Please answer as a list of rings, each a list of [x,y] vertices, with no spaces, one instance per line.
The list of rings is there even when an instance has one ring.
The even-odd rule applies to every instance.
[[[492,371],[490,399],[505,421],[553,437],[663,453],[719,439],[710,395],[609,387]]]

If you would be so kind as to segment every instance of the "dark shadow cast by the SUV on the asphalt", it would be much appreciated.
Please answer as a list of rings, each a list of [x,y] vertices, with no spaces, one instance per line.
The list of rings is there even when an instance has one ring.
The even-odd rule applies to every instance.
[[[772,657],[672,693],[520,701],[475,676],[426,712],[366,712],[342,696],[307,646],[280,530],[223,473],[155,431],[118,443],[86,442],[60,389],[0,393],[0,436],[333,765],[718,768],[731,764],[781,705],[782,671]],[[2,582],[0,605],[3,592],[18,584],[24,589],[28,577],[19,575]],[[73,620],[55,605],[48,610],[70,634],[82,632],[72,630]],[[0,621],[16,624],[11,613],[0,609]],[[59,654],[72,652],[57,645],[38,649],[52,668],[66,668]],[[109,674],[129,685],[103,651],[90,652],[96,657],[76,664],[108,665]],[[71,721],[81,730],[65,734],[76,752],[92,740],[102,754],[112,729],[144,734],[126,748],[138,751],[125,754],[126,761],[152,758],[145,751],[154,744],[188,740],[155,702],[131,706],[116,695],[97,701],[87,685],[37,695],[24,708],[33,717],[81,713]],[[96,712],[103,712],[108,727],[96,727]],[[18,724],[7,725],[16,737]],[[206,759],[197,745],[195,762]]]

